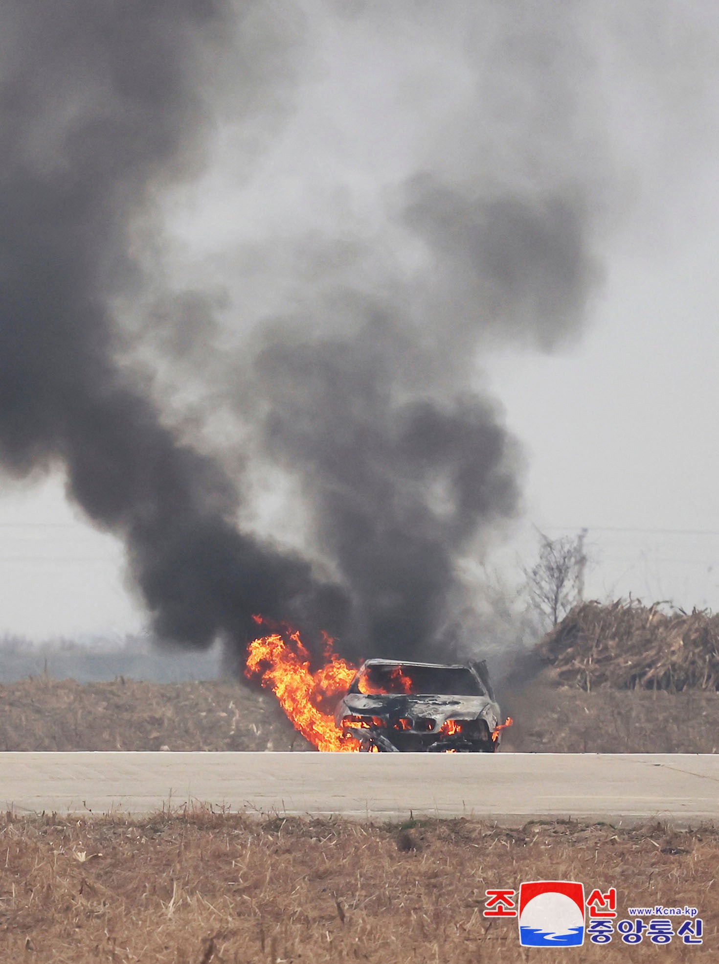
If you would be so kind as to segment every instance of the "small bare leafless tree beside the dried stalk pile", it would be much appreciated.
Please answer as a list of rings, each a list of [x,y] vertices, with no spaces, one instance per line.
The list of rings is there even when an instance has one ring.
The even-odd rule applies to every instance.
[[[586,535],[587,530],[582,529],[576,536],[549,539],[540,532],[539,559],[532,569],[523,569],[534,604],[548,617],[552,626],[556,626],[584,597]]]

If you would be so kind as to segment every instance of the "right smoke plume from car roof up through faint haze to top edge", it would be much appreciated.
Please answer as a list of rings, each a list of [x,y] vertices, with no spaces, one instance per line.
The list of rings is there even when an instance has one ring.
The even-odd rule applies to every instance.
[[[466,61],[475,85],[439,153],[424,143],[386,187],[382,227],[367,241],[337,220],[293,241],[290,226],[289,240],[255,254],[272,264],[277,245],[294,244],[279,259],[294,266],[292,297],[254,336],[239,407],[261,457],[301,481],[317,552],[352,599],[344,649],[364,656],[476,645],[456,631],[470,603],[459,563],[519,513],[522,469],[501,409],[478,388],[477,360],[492,344],[550,349],[575,335],[600,277],[601,159],[578,143],[573,18],[521,3],[445,14],[355,8],[368,51],[398,30],[388,83],[401,89],[406,63],[437,42],[441,62]],[[263,279],[285,283],[277,268]]]

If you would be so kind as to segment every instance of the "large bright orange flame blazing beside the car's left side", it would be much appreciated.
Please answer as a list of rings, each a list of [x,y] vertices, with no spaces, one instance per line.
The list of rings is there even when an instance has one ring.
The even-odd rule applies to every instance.
[[[263,625],[261,616],[253,616]],[[323,701],[342,696],[357,667],[333,653],[333,640],[325,637],[327,663],[314,673],[299,632],[287,627],[253,640],[249,647],[245,676],[260,676],[262,685],[277,696],[282,710],[296,730],[318,750],[352,752],[360,743],[334,725],[331,715],[319,709]]]

